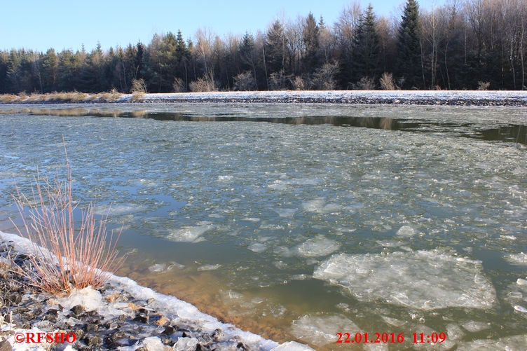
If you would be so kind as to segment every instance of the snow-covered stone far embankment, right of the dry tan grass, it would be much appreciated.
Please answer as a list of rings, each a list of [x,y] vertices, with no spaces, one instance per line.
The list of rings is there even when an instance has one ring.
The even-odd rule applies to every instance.
[[[180,92],[122,95],[115,102],[252,102],[326,104],[419,104],[527,106],[527,91],[479,90],[287,90]]]

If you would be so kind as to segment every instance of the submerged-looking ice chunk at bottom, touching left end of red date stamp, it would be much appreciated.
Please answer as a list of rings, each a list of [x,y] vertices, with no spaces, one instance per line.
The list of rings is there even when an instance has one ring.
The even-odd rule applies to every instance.
[[[359,327],[350,319],[340,315],[305,315],[292,323],[291,333],[301,340],[322,346],[335,343],[336,333],[354,334]]]

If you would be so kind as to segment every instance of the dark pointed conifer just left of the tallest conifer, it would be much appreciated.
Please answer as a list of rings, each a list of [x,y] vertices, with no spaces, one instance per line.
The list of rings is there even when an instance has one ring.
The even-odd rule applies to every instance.
[[[377,30],[374,8],[369,4],[367,12],[362,16],[353,41],[353,75],[359,81],[362,77],[373,78],[381,74],[381,47]]]

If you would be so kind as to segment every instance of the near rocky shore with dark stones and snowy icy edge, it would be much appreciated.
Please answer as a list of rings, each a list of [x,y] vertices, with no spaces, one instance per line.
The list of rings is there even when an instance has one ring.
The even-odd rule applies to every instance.
[[[12,263],[29,264],[29,254],[20,251],[16,242],[2,240],[0,235],[3,293],[0,351],[43,350],[39,347],[123,351],[311,350],[293,341],[279,345],[230,324],[221,324],[198,312],[193,305],[139,287],[128,278],[114,276],[101,289],[74,290],[66,297],[46,294],[29,287],[20,275],[13,273]],[[178,305],[170,310],[167,302],[173,305],[174,301]],[[34,336],[32,340],[26,338],[28,333]],[[75,340],[48,343],[45,334],[41,334],[41,343],[36,343],[38,333],[52,336],[74,333],[69,341]]]

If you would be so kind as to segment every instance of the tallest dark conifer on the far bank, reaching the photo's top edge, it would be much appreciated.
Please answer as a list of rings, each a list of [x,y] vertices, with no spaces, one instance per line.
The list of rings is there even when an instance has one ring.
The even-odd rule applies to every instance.
[[[404,78],[403,88],[423,87],[422,35],[419,6],[416,0],[408,0],[399,27],[395,64],[397,76]]]

